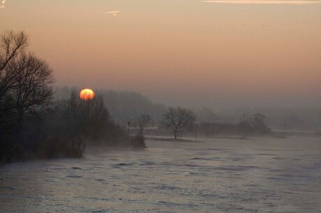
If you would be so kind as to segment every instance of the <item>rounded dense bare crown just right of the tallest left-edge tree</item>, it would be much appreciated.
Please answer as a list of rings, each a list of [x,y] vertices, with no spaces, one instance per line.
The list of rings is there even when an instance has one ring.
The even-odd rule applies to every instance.
[[[33,54],[22,54],[7,65],[6,76],[15,82],[9,90],[19,122],[24,116],[38,116],[38,112],[52,106],[54,74],[52,68]]]

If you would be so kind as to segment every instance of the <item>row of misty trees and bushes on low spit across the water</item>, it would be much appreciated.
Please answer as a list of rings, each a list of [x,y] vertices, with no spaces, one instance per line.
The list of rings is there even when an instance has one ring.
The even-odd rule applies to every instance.
[[[251,135],[268,135],[271,129],[266,123],[267,117],[262,113],[254,113],[252,116],[244,113],[238,123],[197,123],[197,116],[192,110],[181,107],[168,107],[163,114],[163,120],[158,129],[150,131],[151,134],[163,134],[163,129],[170,132],[177,139],[178,134],[191,136],[195,132],[200,136],[241,136],[246,139]]]

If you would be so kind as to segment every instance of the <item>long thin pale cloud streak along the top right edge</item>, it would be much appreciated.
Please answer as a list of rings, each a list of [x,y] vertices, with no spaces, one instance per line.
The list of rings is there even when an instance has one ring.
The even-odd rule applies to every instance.
[[[305,5],[305,4],[315,4],[321,3],[321,1],[279,1],[279,0],[209,0],[201,1],[204,3],[225,3],[225,4],[293,4],[293,5]]]

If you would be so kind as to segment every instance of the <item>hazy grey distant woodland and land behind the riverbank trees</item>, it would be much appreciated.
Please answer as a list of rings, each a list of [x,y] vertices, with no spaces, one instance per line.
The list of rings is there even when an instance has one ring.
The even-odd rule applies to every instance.
[[[56,88],[57,98],[67,100],[72,90],[77,87]],[[153,102],[150,97],[126,90],[95,90],[103,96],[105,105],[113,120],[119,125],[126,125],[128,120],[147,114],[155,121],[155,127],[163,119],[167,104]],[[318,136],[321,129],[320,107],[193,107],[197,123],[235,124],[239,123],[244,113],[248,116],[262,113],[266,116],[267,126],[274,132],[288,132],[289,135]],[[154,129],[153,128],[153,129]],[[205,131],[205,130],[204,130]],[[204,132],[201,132],[204,133]],[[226,133],[228,134],[228,133]],[[215,133],[213,132],[214,136]]]

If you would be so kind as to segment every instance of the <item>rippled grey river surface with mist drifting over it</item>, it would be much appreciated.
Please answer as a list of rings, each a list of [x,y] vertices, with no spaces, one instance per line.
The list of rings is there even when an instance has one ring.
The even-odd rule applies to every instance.
[[[0,166],[0,212],[321,212],[320,139],[202,141]]]

